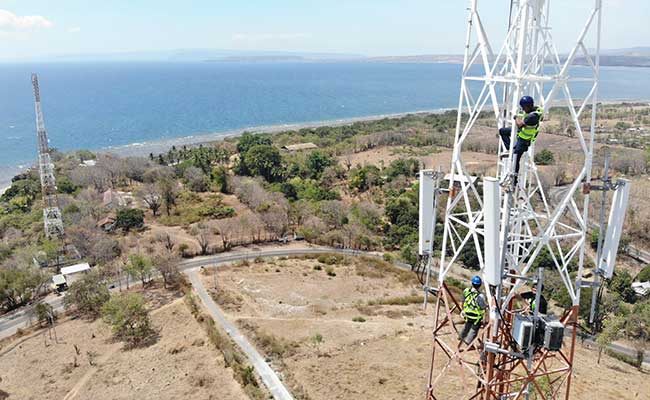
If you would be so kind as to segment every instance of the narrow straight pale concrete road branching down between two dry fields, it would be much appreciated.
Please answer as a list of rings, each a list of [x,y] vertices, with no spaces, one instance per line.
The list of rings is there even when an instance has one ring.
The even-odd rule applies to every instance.
[[[208,309],[212,316],[223,330],[228,333],[228,336],[239,346],[239,348],[246,354],[248,361],[253,365],[255,371],[260,375],[264,385],[269,389],[273,398],[276,400],[293,400],[293,396],[284,386],[278,375],[273,371],[269,364],[265,361],[264,357],[255,349],[248,339],[237,329],[237,327],[228,321],[219,306],[215,304],[208,292],[205,290],[201,278],[199,278],[196,269],[190,269],[185,272],[192,282],[192,287],[196,290],[203,305]]]

